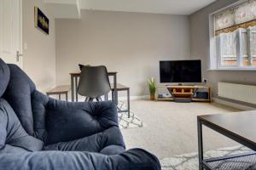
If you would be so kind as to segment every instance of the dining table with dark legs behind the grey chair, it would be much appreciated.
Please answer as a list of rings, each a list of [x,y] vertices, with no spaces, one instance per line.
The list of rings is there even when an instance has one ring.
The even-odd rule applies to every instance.
[[[72,101],[78,101],[78,84],[81,71],[69,73],[71,77],[71,99]],[[118,105],[118,94],[117,94],[117,71],[108,72],[108,77],[113,77],[113,102]],[[75,100],[76,99],[76,100]]]

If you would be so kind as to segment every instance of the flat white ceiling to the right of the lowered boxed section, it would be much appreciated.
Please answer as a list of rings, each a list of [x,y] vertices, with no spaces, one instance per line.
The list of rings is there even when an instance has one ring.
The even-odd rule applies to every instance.
[[[80,8],[153,14],[193,14],[216,0],[80,0]]]

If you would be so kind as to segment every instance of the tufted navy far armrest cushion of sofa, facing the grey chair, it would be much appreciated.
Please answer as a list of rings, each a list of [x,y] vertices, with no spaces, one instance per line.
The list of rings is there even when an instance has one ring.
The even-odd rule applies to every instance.
[[[49,99],[46,105],[47,144],[67,142],[118,127],[113,102],[65,102]]]

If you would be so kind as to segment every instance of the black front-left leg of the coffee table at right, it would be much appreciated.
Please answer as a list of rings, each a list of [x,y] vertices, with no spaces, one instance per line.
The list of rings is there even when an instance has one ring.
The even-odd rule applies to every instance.
[[[202,125],[201,125],[201,121],[198,118],[197,118],[197,136],[198,136],[199,170],[203,170],[202,161],[204,157],[203,157]]]

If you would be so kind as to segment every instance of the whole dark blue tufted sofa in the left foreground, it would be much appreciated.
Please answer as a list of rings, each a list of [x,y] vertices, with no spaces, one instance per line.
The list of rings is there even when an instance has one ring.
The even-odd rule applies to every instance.
[[[160,162],[125,150],[112,102],[51,99],[0,59],[0,169],[159,170]]]

